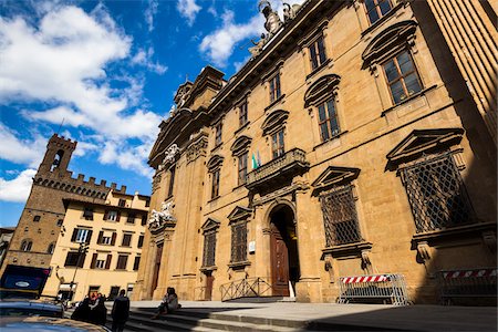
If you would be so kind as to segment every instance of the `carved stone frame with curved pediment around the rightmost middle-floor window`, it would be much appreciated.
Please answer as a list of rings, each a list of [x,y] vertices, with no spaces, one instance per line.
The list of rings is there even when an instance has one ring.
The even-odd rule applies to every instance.
[[[419,63],[418,49],[415,43],[417,30],[418,24],[413,20],[396,22],[375,35],[362,53],[363,69],[370,70],[374,76],[381,102],[383,105],[387,105],[386,110],[383,110],[383,113],[423,95],[427,90],[433,87],[427,87],[426,82],[424,82],[424,75],[422,74],[423,66]],[[411,56],[421,90],[408,95],[403,101],[395,103],[384,65],[404,52],[407,52]]]

